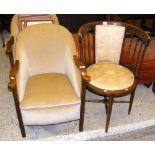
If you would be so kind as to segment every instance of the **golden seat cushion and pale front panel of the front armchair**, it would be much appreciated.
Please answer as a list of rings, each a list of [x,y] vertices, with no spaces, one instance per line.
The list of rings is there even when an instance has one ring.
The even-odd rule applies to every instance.
[[[62,123],[79,119],[80,98],[65,75],[40,74],[29,78],[20,108],[25,125]]]

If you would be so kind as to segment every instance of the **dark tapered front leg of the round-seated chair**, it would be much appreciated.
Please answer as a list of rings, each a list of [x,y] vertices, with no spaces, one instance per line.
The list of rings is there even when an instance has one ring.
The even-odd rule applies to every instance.
[[[108,132],[108,128],[109,128],[112,106],[113,106],[113,96],[110,96],[108,101],[108,111],[107,111],[106,127],[105,127],[106,133]]]

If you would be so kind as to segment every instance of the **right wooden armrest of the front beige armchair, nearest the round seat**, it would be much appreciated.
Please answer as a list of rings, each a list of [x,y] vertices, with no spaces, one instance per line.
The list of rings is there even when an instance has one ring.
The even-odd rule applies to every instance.
[[[81,72],[82,80],[84,80],[85,82],[90,82],[90,76],[87,75],[86,66],[84,65],[84,63],[78,60],[76,55],[74,55],[73,58],[74,58],[74,63],[76,64],[76,66]]]

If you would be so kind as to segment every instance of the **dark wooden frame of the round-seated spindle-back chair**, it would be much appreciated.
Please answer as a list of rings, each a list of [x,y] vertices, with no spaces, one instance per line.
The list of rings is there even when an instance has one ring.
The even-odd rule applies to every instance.
[[[90,23],[82,25],[79,28],[78,35],[81,38],[81,46],[82,46],[80,58],[81,58],[81,61],[83,61],[85,63],[86,67],[95,63],[95,56],[94,56],[95,48],[93,47],[93,45],[95,45],[95,39],[94,39],[93,33],[95,33],[95,26],[102,25],[103,22],[105,22],[105,21],[90,22]],[[139,71],[141,68],[141,64],[142,64],[142,60],[143,60],[146,48],[150,42],[150,36],[147,33],[145,33],[143,30],[141,30],[140,28],[130,25],[130,24],[127,24],[127,23],[108,21],[108,22],[106,22],[106,24],[107,25],[124,26],[126,36],[128,38],[131,37],[129,47],[128,47],[128,53],[127,53],[127,57],[126,57],[126,62],[123,64],[121,61],[121,57],[122,57],[122,53],[123,53],[122,51],[124,50],[124,45],[125,45],[125,35],[124,35],[119,64],[127,67],[134,75],[133,84],[129,88],[123,89],[123,90],[110,91],[110,90],[97,88],[94,85],[91,85],[90,83],[87,84],[87,88],[90,91],[104,97],[103,100],[95,100],[95,102],[105,103],[105,109],[106,109],[106,114],[107,114],[105,132],[107,133],[114,102],[129,103],[128,114],[131,113],[134,94],[135,94],[135,90],[137,87],[137,81],[139,78]],[[131,51],[132,42],[135,37],[138,37],[138,40],[134,47],[134,51]],[[141,41],[141,45],[138,49],[138,44],[140,41]],[[133,52],[132,60],[129,60],[129,57],[130,57],[129,55],[132,52]],[[137,54],[135,54],[135,53],[137,53]],[[136,56],[138,56],[137,60],[135,59]],[[91,77],[90,77],[90,80],[91,80]],[[131,94],[129,101],[115,101],[114,100],[115,97],[126,96],[129,94]],[[90,101],[90,100],[87,100],[87,101]],[[91,102],[92,102],[92,100],[91,100]]]

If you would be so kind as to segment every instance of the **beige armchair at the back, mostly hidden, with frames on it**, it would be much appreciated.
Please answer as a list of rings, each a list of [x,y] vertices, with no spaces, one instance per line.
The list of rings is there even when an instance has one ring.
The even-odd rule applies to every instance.
[[[16,14],[11,20],[11,37],[7,43],[6,54],[9,55],[11,66],[15,62],[15,43],[18,34],[27,26],[39,23],[59,24],[58,17],[55,14]]]

